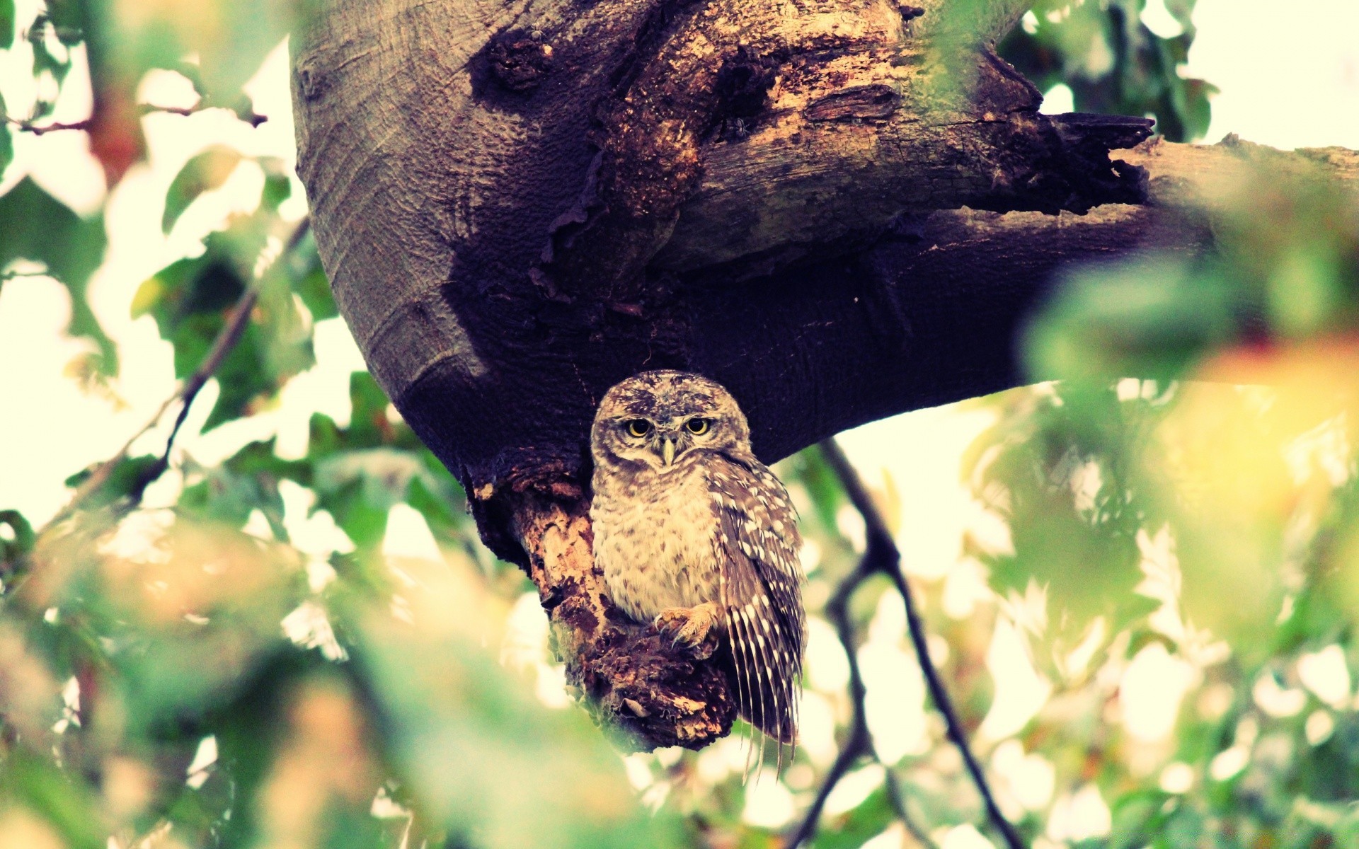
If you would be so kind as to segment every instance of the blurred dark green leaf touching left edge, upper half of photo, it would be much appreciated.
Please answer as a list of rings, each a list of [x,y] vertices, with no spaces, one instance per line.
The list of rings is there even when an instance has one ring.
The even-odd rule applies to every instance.
[[[48,273],[71,293],[67,333],[92,340],[99,348],[99,372],[117,374],[117,348],[86,300],[90,274],[103,261],[103,217],[82,219],[24,177],[0,197],[0,221],[4,221],[0,227],[0,273],[16,259],[46,265]]]

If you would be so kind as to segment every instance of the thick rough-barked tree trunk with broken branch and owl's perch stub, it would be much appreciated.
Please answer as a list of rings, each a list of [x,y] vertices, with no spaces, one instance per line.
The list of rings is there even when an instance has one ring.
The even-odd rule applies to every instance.
[[[1343,151],[1139,145],[1140,118],[1040,114],[991,49],[1025,7],[337,0],[294,39],[340,308],[540,587],[569,682],[635,744],[703,746],[733,702],[594,571],[586,440],[609,386],[707,374],[772,462],[1021,383],[1053,269],[1210,250],[1214,173],[1359,177]]]

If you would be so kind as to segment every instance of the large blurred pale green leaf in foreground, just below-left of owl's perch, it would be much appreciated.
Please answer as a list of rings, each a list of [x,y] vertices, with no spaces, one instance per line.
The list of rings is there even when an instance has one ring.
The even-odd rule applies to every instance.
[[[485,629],[497,628],[485,587],[421,562],[406,564],[421,585],[410,621],[368,606],[356,617],[352,662],[416,810],[484,846],[678,845],[674,811],[637,811],[617,754],[583,710],[546,709],[480,648]]]

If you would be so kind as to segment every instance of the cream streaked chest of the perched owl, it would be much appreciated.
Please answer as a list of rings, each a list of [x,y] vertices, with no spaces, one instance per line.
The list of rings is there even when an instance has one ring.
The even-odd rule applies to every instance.
[[[595,561],[614,602],[632,618],[718,599],[716,516],[701,470],[599,486],[590,519]]]

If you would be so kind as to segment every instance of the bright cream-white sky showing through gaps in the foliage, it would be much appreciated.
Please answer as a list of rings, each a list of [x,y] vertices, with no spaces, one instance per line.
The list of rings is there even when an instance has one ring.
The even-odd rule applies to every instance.
[[[24,8],[31,8],[34,1],[20,0],[20,20],[27,19]],[[1204,77],[1222,90],[1214,102],[1208,140],[1216,141],[1224,133],[1235,132],[1243,139],[1277,147],[1359,148],[1359,37],[1355,35],[1359,33],[1359,3],[1294,0],[1287,4],[1287,12],[1280,12],[1280,8],[1282,4],[1265,0],[1199,0],[1195,16],[1199,38],[1186,73]],[[1162,34],[1173,34],[1174,24],[1165,14],[1162,0],[1148,3],[1144,20]],[[54,115],[57,121],[80,120],[88,113],[90,92],[82,76],[83,57],[76,58],[77,68]],[[215,143],[224,141],[247,153],[275,155],[292,163],[294,128],[287,73],[287,54],[280,49],[251,82],[249,91],[254,96],[255,111],[269,117],[257,129],[222,111],[205,111],[189,118],[151,115],[145,120],[151,162],[129,173],[111,198],[110,251],[91,287],[92,307],[117,341],[122,357],[122,375],[113,384],[116,401],[83,394],[63,374],[67,364],[86,350],[86,344],[58,333],[69,314],[69,303],[58,284],[42,277],[22,277],[0,291],[0,363],[5,364],[0,369],[0,399],[4,399],[4,409],[0,410],[0,508],[19,508],[41,524],[69,497],[61,484],[67,475],[113,455],[174,393],[170,346],[158,338],[151,318],[130,319],[128,306],[132,293],[162,266],[198,250],[202,235],[219,227],[231,211],[247,209],[258,198],[262,175],[258,167],[243,163],[223,189],[196,202],[169,238],[160,232],[166,189],[192,155]],[[24,46],[8,57],[0,54],[0,92],[11,113],[22,113],[31,102]],[[143,98],[162,105],[189,105],[188,96],[175,75],[154,75],[143,86]],[[1049,92],[1048,107],[1061,111],[1061,91]],[[16,159],[0,178],[0,192],[24,174],[31,174],[77,211],[92,211],[102,201],[101,173],[88,155],[82,133],[50,133],[41,139],[18,133],[15,148]],[[296,194],[300,197],[300,186],[296,186]],[[294,216],[303,212],[300,201],[291,208]],[[299,455],[304,450],[306,422],[313,412],[348,420],[348,374],[363,365],[340,321],[322,322],[317,327],[317,368],[292,380],[275,410],[249,422],[200,435],[198,427],[216,394],[216,386],[209,384],[181,435],[181,450],[200,462],[212,463],[249,440],[277,433],[280,451]],[[946,606],[955,615],[966,613],[981,587],[981,576],[974,569],[957,568],[964,531],[972,530],[983,539],[1004,545],[1003,528],[998,528],[995,519],[974,504],[958,474],[961,452],[988,422],[985,412],[946,408],[898,416],[859,428],[841,439],[870,484],[883,485],[889,477],[893,481],[902,504],[900,534],[902,550],[908,553],[905,565],[924,577],[947,573]],[[158,450],[164,432],[162,427],[148,433],[137,448]],[[148,503],[173,501],[175,488],[177,481],[167,475],[148,493]],[[397,518],[408,519],[404,513]],[[852,532],[853,518],[847,516],[845,520],[847,530]],[[421,538],[414,532],[419,530],[402,535]],[[527,618],[541,622],[537,606],[527,607],[537,617]],[[879,748],[885,754],[900,755],[916,750],[924,740],[924,715],[920,713],[923,691],[919,672],[900,649],[902,622],[894,609],[881,610],[874,628],[877,632],[870,633],[864,647],[867,653],[860,657],[870,685],[870,724]],[[996,675],[998,694],[1004,694],[1004,698],[998,697],[998,705],[1007,704],[1012,710],[1008,715],[993,712],[983,734],[1003,739],[1046,700],[1048,685],[1026,671],[1029,664],[1022,657],[1017,662],[1012,656],[1018,643],[1007,636],[1004,626],[998,626],[988,666]],[[829,648],[822,651],[818,645]],[[818,636],[813,628],[809,675],[814,683],[819,676],[824,685],[819,689],[825,691],[843,686],[844,660],[837,651],[829,633]],[[1177,674],[1176,668],[1166,667],[1166,659],[1139,659],[1139,663],[1152,664],[1146,675],[1150,681]],[[803,709],[805,746],[809,753],[828,759],[834,751],[829,736],[833,720],[828,704],[817,701],[821,697],[814,693],[815,689],[809,690],[809,702]],[[1124,697],[1131,700],[1133,694],[1129,691]],[[881,721],[875,701],[885,705]],[[904,704],[917,706],[919,721],[904,719]],[[1041,758],[1025,755],[1022,748],[1006,746],[1010,743],[996,750],[996,769],[1015,776],[1017,788],[1046,787],[1044,799],[1033,803],[1045,804],[1053,792],[1051,767]],[[720,759],[724,755],[719,750],[713,747],[711,751],[715,754],[705,757]],[[1011,766],[1003,766],[1003,759]],[[864,776],[860,784],[871,789],[875,781],[881,781],[881,776]],[[777,782],[762,785],[771,788],[769,793],[787,792],[773,789],[781,787]],[[848,782],[848,787],[855,785]],[[1094,801],[1087,796],[1075,793],[1059,800],[1059,807],[1072,818],[1071,823],[1086,823],[1071,825],[1072,834],[1079,830],[1078,826],[1098,827],[1101,816],[1108,818],[1098,793]],[[848,808],[853,800],[839,800],[836,804],[840,803]],[[769,811],[787,815],[790,804],[780,796],[747,814],[756,819],[768,819]],[[1082,810],[1091,812],[1083,815]],[[1095,826],[1089,826],[1090,822]],[[977,839],[981,839],[980,835]],[[943,842],[951,846],[980,845],[962,831],[947,835]]]

